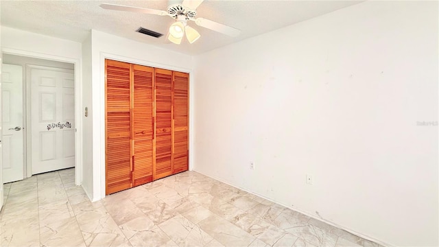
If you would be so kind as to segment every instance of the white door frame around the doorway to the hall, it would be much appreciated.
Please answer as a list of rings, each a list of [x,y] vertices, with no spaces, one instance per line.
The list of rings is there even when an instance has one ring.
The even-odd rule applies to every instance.
[[[65,58],[48,54],[40,54],[33,51],[22,51],[17,49],[3,48],[1,54],[10,54],[16,56],[25,56],[30,58],[40,58],[45,60],[54,60],[58,62],[68,62],[73,64],[75,73],[75,184],[82,185],[82,68],[81,61],[75,58]],[[26,85],[27,88],[28,85]],[[27,90],[26,90],[27,91]],[[24,99],[25,100],[25,99]],[[27,110],[27,107],[26,107]],[[23,115],[27,115],[23,113]],[[28,124],[26,119],[26,125]],[[29,126],[26,126],[26,130]],[[27,132],[27,131],[26,131]],[[27,145],[25,145],[27,146]],[[27,153],[27,150],[25,151]],[[27,159],[25,161],[27,163]],[[27,177],[32,176],[32,169],[29,165],[25,169]]]

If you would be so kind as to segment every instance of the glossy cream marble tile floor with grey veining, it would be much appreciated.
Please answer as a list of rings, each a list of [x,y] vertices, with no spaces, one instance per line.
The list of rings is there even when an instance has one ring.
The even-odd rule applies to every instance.
[[[197,172],[90,202],[74,169],[4,185],[0,246],[376,246]]]

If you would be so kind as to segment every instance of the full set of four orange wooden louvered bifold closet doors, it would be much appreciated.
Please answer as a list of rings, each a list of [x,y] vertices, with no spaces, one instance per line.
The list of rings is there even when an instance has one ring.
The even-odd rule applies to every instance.
[[[105,62],[106,194],[187,171],[189,74]]]

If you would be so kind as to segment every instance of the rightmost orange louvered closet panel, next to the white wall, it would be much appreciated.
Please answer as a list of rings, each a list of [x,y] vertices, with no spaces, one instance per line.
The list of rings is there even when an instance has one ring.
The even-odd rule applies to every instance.
[[[187,171],[189,74],[173,73],[173,174]]]

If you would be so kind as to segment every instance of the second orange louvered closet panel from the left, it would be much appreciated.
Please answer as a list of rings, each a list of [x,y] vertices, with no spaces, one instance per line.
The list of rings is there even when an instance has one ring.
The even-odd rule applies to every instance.
[[[153,74],[154,69],[151,67],[133,65],[133,186],[152,181]]]

